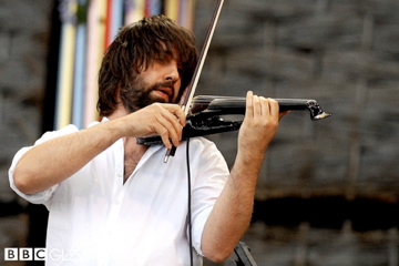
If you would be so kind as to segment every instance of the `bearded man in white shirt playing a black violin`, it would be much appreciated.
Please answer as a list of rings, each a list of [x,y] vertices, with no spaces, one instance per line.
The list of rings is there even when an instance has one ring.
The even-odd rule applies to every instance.
[[[20,150],[11,187],[49,209],[48,265],[202,265],[226,259],[245,233],[256,180],[273,139],[278,103],[247,93],[229,172],[214,143],[190,140],[187,227],[185,115],[176,104],[196,64],[193,35],[163,16],[121,29],[99,75],[103,116],[69,125]],[[161,135],[164,145],[136,137]],[[163,163],[166,149],[178,146]],[[192,250],[193,248],[193,250]]]

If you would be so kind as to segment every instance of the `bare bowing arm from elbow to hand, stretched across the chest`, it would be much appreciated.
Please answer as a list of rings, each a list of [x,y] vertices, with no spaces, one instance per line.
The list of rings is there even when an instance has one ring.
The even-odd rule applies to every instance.
[[[185,116],[176,104],[152,104],[129,115],[43,142],[30,149],[13,172],[17,188],[34,194],[66,180],[121,137],[161,135],[178,145]]]

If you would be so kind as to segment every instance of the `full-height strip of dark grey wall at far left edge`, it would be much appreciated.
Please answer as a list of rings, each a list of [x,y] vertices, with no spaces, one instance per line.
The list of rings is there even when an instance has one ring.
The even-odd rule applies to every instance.
[[[9,188],[8,168],[41,134],[52,4],[0,1],[0,265],[4,247],[27,246],[28,205]]]

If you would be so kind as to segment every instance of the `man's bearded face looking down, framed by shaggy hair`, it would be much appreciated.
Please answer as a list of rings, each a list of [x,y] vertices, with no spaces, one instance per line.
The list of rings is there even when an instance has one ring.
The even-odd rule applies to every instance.
[[[121,100],[129,112],[155,102],[176,103],[182,84],[180,69],[174,59],[156,60],[142,71],[131,88],[121,89]]]

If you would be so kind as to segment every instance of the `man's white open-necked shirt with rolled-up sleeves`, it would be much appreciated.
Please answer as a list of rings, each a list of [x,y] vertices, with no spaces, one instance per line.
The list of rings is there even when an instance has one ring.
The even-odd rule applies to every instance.
[[[76,131],[69,125],[48,132],[35,145]],[[167,163],[166,149],[151,146],[123,184],[119,140],[68,180],[32,195],[13,183],[14,167],[30,147],[21,149],[10,185],[49,209],[47,265],[190,265],[186,144]],[[190,172],[194,265],[202,265],[203,228],[229,172],[215,144],[203,137],[190,141]]]

